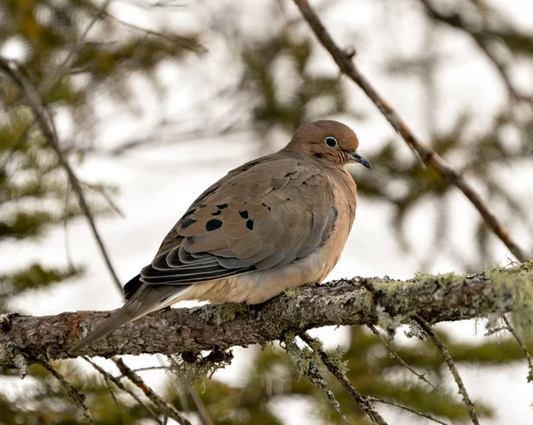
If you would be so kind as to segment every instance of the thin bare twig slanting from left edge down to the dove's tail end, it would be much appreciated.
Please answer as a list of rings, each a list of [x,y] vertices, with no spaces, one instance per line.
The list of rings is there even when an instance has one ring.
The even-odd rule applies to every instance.
[[[46,106],[44,106],[43,99],[38,96],[38,93],[36,91],[36,85],[31,81],[29,81],[28,83],[28,77],[23,76],[23,73],[20,71],[23,68],[21,68],[20,65],[17,64],[16,62],[7,61],[5,59],[0,58],[0,69],[2,69],[7,75],[9,75],[12,78],[12,81],[15,84],[17,84],[20,90],[24,93],[26,100],[28,102],[28,106],[31,107],[34,114],[36,115],[36,122],[41,128],[41,131],[44,134],[44,138],[46,138],[48,145],[52,147],[52,150],[58,156],[61,166],[67,172],[70,185],[72,185],[77,195],[80,208],[82,209],[84,216],[87,218],[87,221],[89,222],[92,235],[94,236],[94,239],[97,241],[99,245],[99,250],[102,256],[104,257],[104,261],[107,264],[107,270],[111,274],[115,282],[115,286],[118,288],[118,290],[122,294],[123,292],[122,285],[120,284],[120,281],[116,275],[113,264],[111,263],[111,259],[109,258],[109,255],[107,254],[107,248],[104,245],[103,240],[99,236],[99,232],[96,228],[96,224],[94,222],[94,217],[92,216],[91,209],[89,209],[89,205],[87,204],[87,201],[85,200],[82,186],[80,185],[80,182],[78,178],[76,177],[75,172],[70,167],[67,157],[61,151],[60,141],[58,139],[57,133],[54,131],[54,128],[53,128],[52,116],[51,114],[49,114],[48,110],[46,109]],[[28,75],[28,73],[24,73],[24,74]]]

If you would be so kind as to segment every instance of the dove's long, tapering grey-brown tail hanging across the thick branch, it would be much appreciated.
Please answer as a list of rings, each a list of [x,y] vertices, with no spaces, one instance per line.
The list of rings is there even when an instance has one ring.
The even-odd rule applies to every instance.
[[[138,291],[138,296],[134,296],[123,307],[115,311],[109,319],[92,331],[91,334],[88,334],[82,341],[76,343],[74,347],[68,350],[68,353],[71,355],[76,354],[77,351],[110,334],[116,328],[170,305],[169,300],[175,299],[187,288],[187,286],[176,287],[172,285],[154,285],[141,288]]]

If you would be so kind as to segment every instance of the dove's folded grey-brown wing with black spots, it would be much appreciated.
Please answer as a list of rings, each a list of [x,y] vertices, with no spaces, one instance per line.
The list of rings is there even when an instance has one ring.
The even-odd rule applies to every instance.
[[[143,282],[191,285],[267,270],[306,256],[330,234],[332,185],[319,169],[274,157],[237,171],[187,210],[140,273]]]

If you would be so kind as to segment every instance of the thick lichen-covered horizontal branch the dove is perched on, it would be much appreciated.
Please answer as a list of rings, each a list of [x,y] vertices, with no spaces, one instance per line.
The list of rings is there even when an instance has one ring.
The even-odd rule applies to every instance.
[[[480,318],[513,311],[530,317],[533,262],[470,275],[418,275],[407,280],[354,278],[314,284],[267,303],[206,305],[166,309],[148,315],[81,354],[166,355],[221,350],[278,340],[287,333],[331,325],[379,325],[391,328],[418,315],[427,322]],[[68,349],[99,326],[108,311],[66,312],[57,316],[11,315],[0,330],[0,366],[16,367],[16,358],[68,358]]]

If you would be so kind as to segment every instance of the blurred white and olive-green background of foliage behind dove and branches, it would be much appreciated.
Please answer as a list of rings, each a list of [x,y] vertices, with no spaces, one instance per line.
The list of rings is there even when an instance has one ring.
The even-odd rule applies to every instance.
[[[528,0],[322,0],[337,43],[411,129],[464,173],[513,238],[533,252],[533,4]],[[52,112],[122,283],[155,254],[196,196],[229,169],[284,146],[304,122],[337,119],[373,166],[351,169],[360,201],[329,279],[481,272],[513,261],[457,188],[425,169],[354,83],[339,76],[289,0],[0,0],[0,56],[28,70]],[[23,94],[0,75],[0,312],[113,310],[111,278],[76,194]],[[533,423],[521,348],[485,321],[437,329],[485,424]],[[363,328],[314,331],[343,351],[357,390],[446,423],[469,421],[431,343],[394,347],[435,391]],[[531,347],[531,345],[529,345]],[[337,424],[338,414],[285,351],[235,349],[211,381],[141,375],[194,423]],[[116,374],[112,363],[98,364]],[[56,365],[101,423],[153,423],[82,360]],[[352,423],[362,412],[330,388]],[[188,385],[187,385],[188,384]],[[189,391],[190,390],[190,391]],[[428,423],[378,406],[389,423]],[[206,414],[207,413],[207,414]],[[51,375],[0,375],[0,423],[82,421]]]

